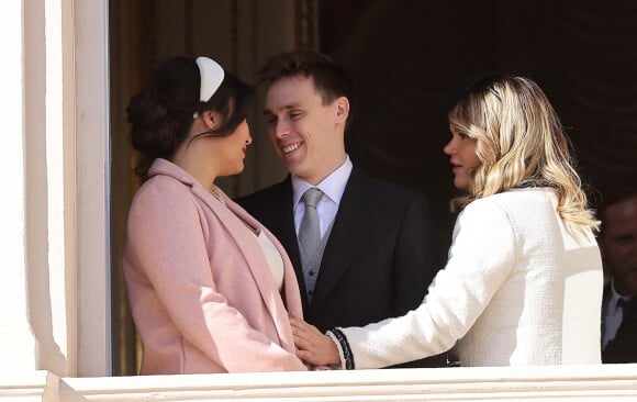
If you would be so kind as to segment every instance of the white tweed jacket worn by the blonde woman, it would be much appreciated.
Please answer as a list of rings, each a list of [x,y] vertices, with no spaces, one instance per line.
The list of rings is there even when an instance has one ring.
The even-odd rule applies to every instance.
[[[573,236],[551,189],[476,200],[454,228],[446,267],[406,315],[340,328],[355,368],[454,347],[462,366],[600,364],[602,260],[592,232]]]

